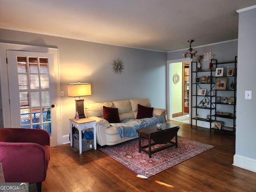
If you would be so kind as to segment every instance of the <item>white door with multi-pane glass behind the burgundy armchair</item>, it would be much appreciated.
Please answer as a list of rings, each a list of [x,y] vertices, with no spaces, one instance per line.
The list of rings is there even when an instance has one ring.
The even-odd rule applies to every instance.
[[[11,127],[46,130],[51,144],[57,143],[53,55],[15,50],[6,54]]]

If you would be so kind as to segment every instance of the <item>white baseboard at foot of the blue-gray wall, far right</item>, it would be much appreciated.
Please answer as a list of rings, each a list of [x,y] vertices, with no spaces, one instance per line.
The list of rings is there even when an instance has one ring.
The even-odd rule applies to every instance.
[[[235,154],[233,165],[249,171],[256,172],[256,159]]]

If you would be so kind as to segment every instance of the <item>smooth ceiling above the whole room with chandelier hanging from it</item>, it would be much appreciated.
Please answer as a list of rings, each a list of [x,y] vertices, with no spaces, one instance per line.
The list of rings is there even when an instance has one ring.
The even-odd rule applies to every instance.
[[[0,28],[171,51],[238,38],[256,0],[0,0]]]

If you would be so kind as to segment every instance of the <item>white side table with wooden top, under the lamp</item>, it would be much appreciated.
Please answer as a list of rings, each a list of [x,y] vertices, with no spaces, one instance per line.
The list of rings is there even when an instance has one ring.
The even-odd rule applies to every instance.
[[[70,146],[73,146],[73,134],[72,134],[72,125],[75,126],[79,131],[79,153],[82,154],[82,130],[92,129],[94,136],[94,149],[97,149],[96,142],[96,121],[90,118],[82,118],[76,120],[74,118],[69,119],[70,121]]]

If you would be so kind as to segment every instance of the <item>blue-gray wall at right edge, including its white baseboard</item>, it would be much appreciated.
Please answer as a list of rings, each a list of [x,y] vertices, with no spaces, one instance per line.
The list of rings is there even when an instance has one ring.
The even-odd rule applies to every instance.
[[[256,172],[256,8],[239,13],[236,155],[234,164]],[[245,99],[252,90],[252,100]]]

